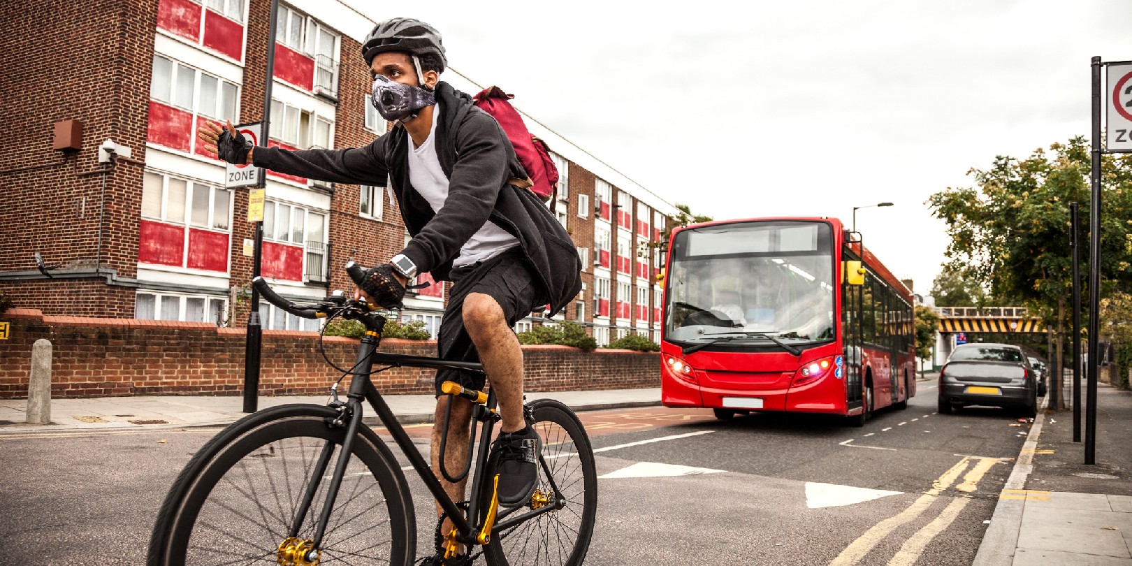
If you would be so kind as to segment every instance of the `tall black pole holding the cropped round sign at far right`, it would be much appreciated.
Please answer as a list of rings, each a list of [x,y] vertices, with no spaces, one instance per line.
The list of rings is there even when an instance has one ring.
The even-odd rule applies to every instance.
[[[1100,355],[1100,57],[1092,58],[1092,204],[1089,209],[1089,370],[1084,463],[1097,463],[1097,369]]]

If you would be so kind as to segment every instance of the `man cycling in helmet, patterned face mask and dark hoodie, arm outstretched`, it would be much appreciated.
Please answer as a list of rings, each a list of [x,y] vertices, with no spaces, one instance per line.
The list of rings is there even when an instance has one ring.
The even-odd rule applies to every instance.
[[[252,163],[281,173],[331,182],[385,186],[386,179],[412,239],[389,263],[366,272],[367,300],[400,307],[410,280],[431,273],[452,281],[440,323],[441,358],[480,361],[499,400],[499,500],[515,506],[531,497],[538,479],[538,434],[523,417],[523,354],[512,327],[534,309],[557,312],[581,291],[581,261],[569,235],[539,198],[499,125],[468,94],[439,80],[447,63],[440,34],[410,18],[377,24],[362,44],[374,78],[372,103],[396,122],[372,144],[348,149],[286,151],[254,147],[207,122],[199,136],[230,163]],[[437,424],[431,461],[440,462],[440,430],[452,405],[448,437],[468,438],[471,402],[441,395],[445,380],[474,389],[482,377],[457,370],[436,376]],[[448,446],[461,446],[448,441]],[[462,470],[465,454],[449,449],[447,470]],[[438,479],[453,500],[464,483]]]

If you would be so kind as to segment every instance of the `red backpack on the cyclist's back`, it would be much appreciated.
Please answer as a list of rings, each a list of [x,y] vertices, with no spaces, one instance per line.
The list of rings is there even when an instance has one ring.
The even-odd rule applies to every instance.
[[[515,95],[503,92],[498,86],[491,86],[480,91],[473,98],[475,105],[495,117],[507,134],[507,139],[515,147],[518,162],[523,164],[526,174],[531,177],[531,182],[534,183],[531,191],[547,200],[558,191],[558,168],[550,158],[550,148],[546,142],[531,135],[518,111],[508,102],[514,97]],[[552,207],[554,200],[551,209]]]

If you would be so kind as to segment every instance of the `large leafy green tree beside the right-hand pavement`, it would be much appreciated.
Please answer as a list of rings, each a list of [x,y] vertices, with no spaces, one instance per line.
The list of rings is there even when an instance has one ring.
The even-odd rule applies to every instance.
[[[932,195],[928,205],[951,237],[950,268],[969,274],[990,297],[1023,305],[1056,327],[1072,285],[1070,201],[1080,203],[1082,263],[1089,257],[1090,169],[1088,143],[1075,137],[1050,145],[1048,153],[1036,149],[1026,160],[997,156],[990,168],[969,171],[975,187]],[[1132,155],[1105,155],[1101,180],[1104,297],[1132,285]],[[1087,265],[1081,268],[1088,273]]]

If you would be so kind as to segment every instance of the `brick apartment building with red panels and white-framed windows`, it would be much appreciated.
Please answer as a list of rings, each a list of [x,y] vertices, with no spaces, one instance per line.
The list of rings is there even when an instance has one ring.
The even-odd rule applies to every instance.
[[[204,120],[261,118],[267,45],[260,40],[269,8],[268,0],[0,8],[9,32],[0,48],[20,61],[0,76],[0,125],[12,138],[0,148],[0,181],[15,189],[0,208],[0,291],[17,307],[246,321],[248,191],[224,188],[223,163],[205,155],[195,131]],[[359,41],[385,16],[336,0],[280,2],[271,145],[355,147],[386,130],[368,103],[369,70],[358,55]],[[451,69],[441,79],[469,93],[481,88]],[[646,245],[675,208],[535,121],[528,125],[556,152],[563,177],[556,214],[585,269],[585,288],[558,318],[592,328],[599,344],[631,332],[658,340],[659,256]],[[100,163],[106,139],[121,151]],[[295,300],[348,289],[337,266],[385,260],[408,238],[392,194],[379,187],[269,173],[266,195],[261,271]],[[446,286],[411,295],[403,318],[435,333]],[[261,312],[265,328],[317,328],[266,303]],[[532,324],[539,320],[518,329]]]

